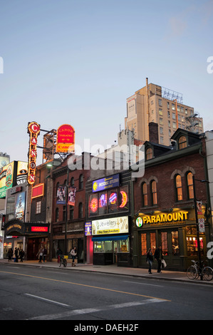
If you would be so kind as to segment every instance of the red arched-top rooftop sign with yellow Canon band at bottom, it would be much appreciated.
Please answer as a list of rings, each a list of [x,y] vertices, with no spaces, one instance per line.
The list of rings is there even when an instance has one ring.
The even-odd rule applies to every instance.
[[[75,130],[71,125],[61,125],[57,130],[56,153],[73,153]]]

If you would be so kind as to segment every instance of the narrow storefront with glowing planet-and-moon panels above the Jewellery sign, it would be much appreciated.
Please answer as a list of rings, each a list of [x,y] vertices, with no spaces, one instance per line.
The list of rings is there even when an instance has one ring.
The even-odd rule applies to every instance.
[[[131,266],[130,181],[125,171],[87,183],[87,262]]]

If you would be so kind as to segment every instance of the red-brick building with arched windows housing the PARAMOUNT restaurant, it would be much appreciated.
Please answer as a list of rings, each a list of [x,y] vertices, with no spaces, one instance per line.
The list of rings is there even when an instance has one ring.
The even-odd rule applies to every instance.
[[[154,252],[162,245],[167,269],[185,270],[197,258],[194,187],[202,203],[198,218],[204,219],[204,232],[199,233],[204,259],[210,239],[204,138],[182,129],[170,146],[159,145],[155,138],[145,142],[145,174],[134,182],[133,267],[147,267],[147,249]]]

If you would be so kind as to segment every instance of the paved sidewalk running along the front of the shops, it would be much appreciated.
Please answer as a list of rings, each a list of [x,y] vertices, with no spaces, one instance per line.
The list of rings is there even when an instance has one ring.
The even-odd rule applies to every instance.
[[[71,263],[68,263],[68,266],[64,268],[63,266],[58,267],[57,262],[45,262],[38,263],[38,261],[24,261],[21,263],[15,263],[14,261],[8,262],[8,259],[0,259],[0,264],[6,263],[9,264],[11,269],[17,265],[18,266],[30,266],[30,267],[44,267],[51,269],[68,269],[70,271],[88,271],[88,272],[101,272],[105,274],[119,274],[130,277],[140,277],[140,278],[151,278],[151,279],[163,279],[163,280],[172,280],[176,282],[190,282],[192,284],[209,284],[213,285],[213,280],[207,282],[205,280],[201,281],[200,279],[190,280],[187,278],[186,272],[174,272],[162,270],[162,273],[158,274],[156,269],[152,270],[152,274],[148,274],[147,269],[140,269],[135,267],[117,267],[117,265],[93,265],[93,264],[76,264],[76,267],[72,267]]]

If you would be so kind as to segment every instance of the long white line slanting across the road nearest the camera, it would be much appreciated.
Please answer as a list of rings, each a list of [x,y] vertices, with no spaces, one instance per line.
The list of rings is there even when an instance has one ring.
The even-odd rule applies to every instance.
[[[99,309],[98,308],[74,309],[73,311],[66,311],[64,313],[34,316],[32,318],[29,318],[28,320],[56,320],[56,319],[61,319],[61,318],[67,318],[73,315],[90,314],[90,313],[95,313],[99,311],[108,311],[110,309],[127,308],[127,307],[133,307],[133,306],[139,306],[139,305],[145,305],[145,304],[153,304],[157,302],[165,302],[165,301],[162,299],[152,299],[151,298],[151,299],[145,299],[143,301],[125,302],[124,304],[115,304],[115,305],[105,306],[104,308],[99,308]]]

